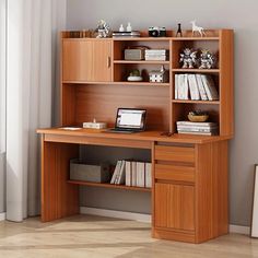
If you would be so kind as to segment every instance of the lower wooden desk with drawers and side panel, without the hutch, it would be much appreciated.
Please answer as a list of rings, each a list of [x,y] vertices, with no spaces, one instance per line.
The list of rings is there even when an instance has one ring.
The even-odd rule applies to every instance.
[[[227,233],[230,137],[165,137],[159,131],[121,134],[90,129],[37,132],[42,134],[43,222],[79,213],[80,183],[69,181],[69,161],[79,156],[79,144],[94,144],[151,150],[153,237],[201,243]]]

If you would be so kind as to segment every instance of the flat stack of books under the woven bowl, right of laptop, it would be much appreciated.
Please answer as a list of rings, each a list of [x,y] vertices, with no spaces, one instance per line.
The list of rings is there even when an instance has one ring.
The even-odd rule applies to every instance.
[[[202,136],[215,136],[218,134],[216,122],[192,122],[192,121],[177,121],[178,133],[191,133]]]

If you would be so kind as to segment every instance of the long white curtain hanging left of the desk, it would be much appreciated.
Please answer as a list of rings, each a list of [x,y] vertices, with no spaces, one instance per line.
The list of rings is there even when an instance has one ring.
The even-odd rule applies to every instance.
[[[7,219],[39,213],[40,145],[37,128],[54,124],[58,32],[66,0],[8,0]]]

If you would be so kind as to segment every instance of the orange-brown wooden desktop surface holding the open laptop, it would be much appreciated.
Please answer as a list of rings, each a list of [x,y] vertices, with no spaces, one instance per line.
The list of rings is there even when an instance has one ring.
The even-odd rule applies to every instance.
[[[120,140],[136,140],[136,141],[159,141],[159,142],[178,142],[178,143],[208,143],[215,141],[230,140],[231,137],[222,136],[195,136],[195,134],[178,134],[174,133],[171,137],[161,136],[162,131],[144,131],[136,133],[114,133],[106,132],[105,130],[97,129],[75,129],[71,128],[46,128],[38,129],[37,133],[43,134],[55,134],[62,137],[86,137],[86,138],[108,138],[108,139],[120,139]]]

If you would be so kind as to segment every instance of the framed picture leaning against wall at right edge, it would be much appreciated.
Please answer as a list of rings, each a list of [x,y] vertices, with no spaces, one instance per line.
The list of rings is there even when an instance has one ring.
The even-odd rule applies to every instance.
[[[250,237],[258,237],[258,164],[255,165]]]

